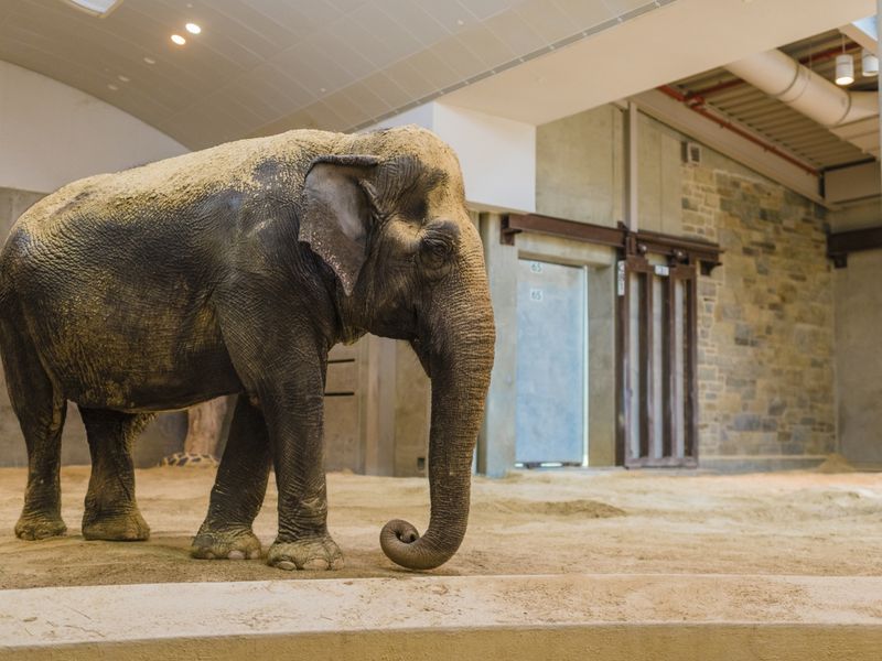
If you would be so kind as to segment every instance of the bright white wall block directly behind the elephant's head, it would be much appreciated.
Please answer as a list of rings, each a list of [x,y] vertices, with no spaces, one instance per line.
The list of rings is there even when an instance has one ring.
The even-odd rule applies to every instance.
[[[536,210],[536,127],[431,102],[370,129],[416,123],[438,133],[460,158],[472,208]]]

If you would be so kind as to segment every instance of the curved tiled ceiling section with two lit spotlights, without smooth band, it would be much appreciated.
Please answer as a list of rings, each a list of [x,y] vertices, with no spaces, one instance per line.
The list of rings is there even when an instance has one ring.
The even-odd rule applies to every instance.
[[[200,148],[367,126],[671,2],[123,0],[95,18],[64,0],[0,0],[0,59]],[[202,34],[175,46],[189,21]]]

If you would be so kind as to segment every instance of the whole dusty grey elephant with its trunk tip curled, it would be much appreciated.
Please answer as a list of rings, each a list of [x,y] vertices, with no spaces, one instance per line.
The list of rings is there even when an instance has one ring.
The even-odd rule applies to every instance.
[[[92,456],[87,540],[144,540],[131,444],[158,411],[237,393],[197,559],[337,568],[324,474],[327,353],[365,333],[407,340],[431,379],[430,518],[389,521],[395,563],[429,570],[465,534],[495,328],[481,238],[453,150],[418,127],[293,130],[100,174],[18,220],[0,252],[0,355],[28,446],[32,540],[65,533],[67,401]]]

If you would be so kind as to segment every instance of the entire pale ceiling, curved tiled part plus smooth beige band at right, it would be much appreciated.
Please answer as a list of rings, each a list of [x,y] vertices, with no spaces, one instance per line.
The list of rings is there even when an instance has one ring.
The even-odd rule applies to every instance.
[[[297,127],[357,129],[442,95],[541,123],[874,9],[874,0],[122,0],[94,18],[65,0],[0,0],[0,59],[196,149]],[[202,34],[183,32],[189,21]],[[173,32],[189,43],[172,44]]]

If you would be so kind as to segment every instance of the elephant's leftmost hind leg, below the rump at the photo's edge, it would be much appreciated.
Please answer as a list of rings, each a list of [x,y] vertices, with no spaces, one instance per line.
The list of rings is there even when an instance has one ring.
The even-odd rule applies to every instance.
[[[61,513],[61,446],[66,400],[43,369],[24,321],[0,322],[0,351],[12,410],[28,447],[28,487],[15,535],[40,540],[64,534]]]

